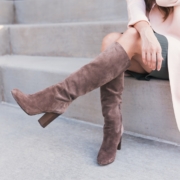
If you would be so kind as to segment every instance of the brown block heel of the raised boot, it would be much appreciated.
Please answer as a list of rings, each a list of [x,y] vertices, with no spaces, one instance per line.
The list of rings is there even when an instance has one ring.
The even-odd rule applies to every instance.
[[[39,124],[45,128],[49,123],[51,123],[55,118],[57,118],[60,114],[56,113],[45,113],[39,120]]]

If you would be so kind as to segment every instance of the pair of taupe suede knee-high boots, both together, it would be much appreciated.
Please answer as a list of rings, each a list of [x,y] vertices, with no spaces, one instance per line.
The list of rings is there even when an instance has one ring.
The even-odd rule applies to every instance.
[[[39,119],[41,126],[45,127],[64,113],[74,99],[100,87],[104,136],[97,162],[107,165],[115,160],[116,150],[121,146],[121,94],[124,71],[129,66],[126,51],[118,42],[114,42],[94,60],[58,84],[34,94],[26,95],[18,89],[13,89],[11,93],[28,115],[45,113]]]

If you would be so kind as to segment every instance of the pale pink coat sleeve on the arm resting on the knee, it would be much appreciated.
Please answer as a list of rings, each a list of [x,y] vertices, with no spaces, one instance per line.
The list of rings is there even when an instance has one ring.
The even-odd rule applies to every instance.
[[[128,10],[128,28],[139,21],[146,21],[151,26],[146,16],[146,5],[144,0],[126,0]]]

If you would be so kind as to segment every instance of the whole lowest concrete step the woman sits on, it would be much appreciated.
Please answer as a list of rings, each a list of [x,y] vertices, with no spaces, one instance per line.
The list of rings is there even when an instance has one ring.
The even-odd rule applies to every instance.
[[[61,82],[91,58],[1,56],[1,100],[15,104],[10,91],[19,88],[35,93]],[[125,77],[122,103],[123,124],[132,134],[151,136],[180,144],[169,81],[138,81]],[[78,97],[64,116],[103,125],[99,88]]]

